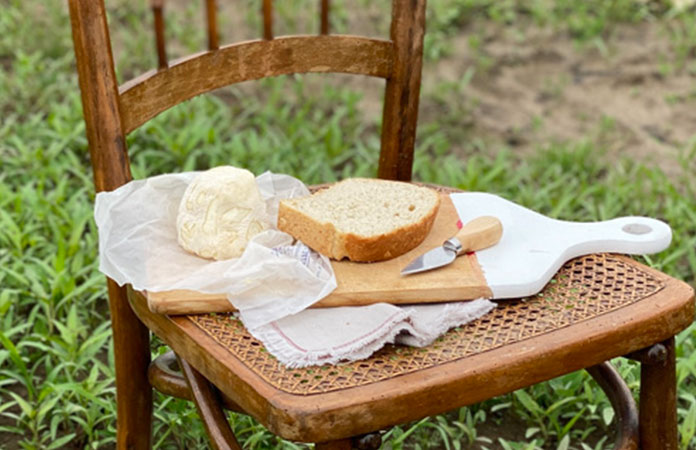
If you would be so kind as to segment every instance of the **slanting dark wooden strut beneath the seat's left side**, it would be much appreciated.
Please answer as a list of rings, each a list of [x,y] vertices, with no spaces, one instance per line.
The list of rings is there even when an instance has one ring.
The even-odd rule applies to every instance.
[[[189,363],[181,358],[177,359],[212,447],[216,450],[241,450],[227,422],[217,389]]]

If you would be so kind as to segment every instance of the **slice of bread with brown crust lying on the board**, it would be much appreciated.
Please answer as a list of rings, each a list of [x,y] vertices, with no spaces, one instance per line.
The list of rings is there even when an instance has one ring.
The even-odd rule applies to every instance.
[[[329,258],[382,261],[417,247],[430,232],[440,195],[399,181],[349,178],[278,208],[278,229]]]

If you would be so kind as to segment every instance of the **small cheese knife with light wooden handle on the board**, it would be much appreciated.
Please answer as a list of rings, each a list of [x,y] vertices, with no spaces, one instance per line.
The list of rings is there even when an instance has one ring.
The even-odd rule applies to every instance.
[[[503,224],[497,217],[482,216],[467,222],[453,237],[447,239],[442,247],[436,247],[404,267],[401,275],[411,275],[446,266],[457,256],[483,250],[495,245],[503,235]]]

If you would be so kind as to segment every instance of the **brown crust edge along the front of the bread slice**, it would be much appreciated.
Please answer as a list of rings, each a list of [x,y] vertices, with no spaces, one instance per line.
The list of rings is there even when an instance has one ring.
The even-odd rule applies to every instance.
[[[427,189],[427,188],[425,188]],[[304,242],[311,249],[335,260],[375,262],[396,258],[414,249],[425,239],[435,222],[440,196],[431,210],[418,222],[376,236],[341,233],[330,222],[319,222],[281,201],[278,229]]]

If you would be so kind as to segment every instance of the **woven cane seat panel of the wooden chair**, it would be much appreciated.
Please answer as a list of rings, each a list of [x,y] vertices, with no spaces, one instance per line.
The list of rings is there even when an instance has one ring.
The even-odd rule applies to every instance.
[[[663,281],[625,258],[585,256],[565,264],[541,293],[499,301],[488,315],[450,330],[428,347],[387,345],[366,360],[303,369],[280,364],[233,315],[191,315],[188,320],[270,385],[312,395],[364,386],[569,327],[639,302],[663,287]]]

